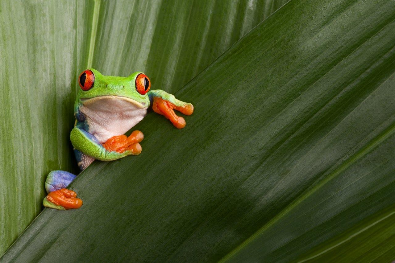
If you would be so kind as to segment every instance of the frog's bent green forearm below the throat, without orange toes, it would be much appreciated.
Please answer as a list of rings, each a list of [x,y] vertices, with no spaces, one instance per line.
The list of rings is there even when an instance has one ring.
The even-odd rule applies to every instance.
[[[107,151],[94,135],[77,126],[71,130],[70,140],[77,150],[101,161],[116,160],[128,155],[127,152],[119,153]]]

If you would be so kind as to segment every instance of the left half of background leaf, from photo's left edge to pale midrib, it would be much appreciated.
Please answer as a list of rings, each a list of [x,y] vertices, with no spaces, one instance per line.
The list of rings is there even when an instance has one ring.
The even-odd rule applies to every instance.
[[[86,67],[92,18],[78,14],[87,11],[82,2],[0,1],[0,254],[40,212],[46,174],[77,172],[70,109]]]

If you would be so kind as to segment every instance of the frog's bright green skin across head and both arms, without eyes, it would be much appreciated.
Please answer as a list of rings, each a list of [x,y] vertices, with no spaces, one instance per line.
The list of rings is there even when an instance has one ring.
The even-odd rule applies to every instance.
[[[163,90],[150,90],[147,94],[141,95],[135,88],[135,79],[137,75],[142,72],[132,73],[132,75],[128,77],[113,77],[104,76],[93,68],[89,68],[89,70],[94,73],[94,85],[87,91],[79,89],[77,99],[74,104],[74,114],[77,118],[77,122],[79,121],[78,115],[80,114],[79,106],[83,105],[82,99],[95,98],[98,96],[126,97],[140,103],[145,103],[146,107],[150,106],[154,97],[162,98],[177,106],[189,104],[177,100],[172,94],[168,94]],[[88,131],[85,130],[83,126],[79,126],[77,124],[70,134],[71,143],[77,150],[83,152],[83,154],[102,161],[116,160],[132,154],[132,151],[130,150],[126,150],[122,153],[116,151],[109,152],[102,146],[102,144],[98,143],[98,141],[92,140],[89,133],[87,136],[87,133]]]

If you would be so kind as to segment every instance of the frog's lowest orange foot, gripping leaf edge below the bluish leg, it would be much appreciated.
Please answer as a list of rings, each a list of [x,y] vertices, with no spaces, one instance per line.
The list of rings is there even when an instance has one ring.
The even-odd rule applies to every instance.
[[[45,207],[59,210],[77,209],[83,204],[83,201],[77,198],[77,193],[72,190],[62,188],[49,193],[43,201]]]

